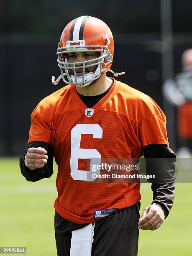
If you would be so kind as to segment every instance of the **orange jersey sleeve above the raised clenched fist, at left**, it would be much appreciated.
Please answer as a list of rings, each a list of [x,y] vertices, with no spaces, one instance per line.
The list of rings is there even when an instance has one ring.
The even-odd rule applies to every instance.
[[[38,105],[31,114],[28,143],[31,141],[44,141],[52,145],[51,124],[52,119],[49,116],[49,112],[46,113],[46,110]]]

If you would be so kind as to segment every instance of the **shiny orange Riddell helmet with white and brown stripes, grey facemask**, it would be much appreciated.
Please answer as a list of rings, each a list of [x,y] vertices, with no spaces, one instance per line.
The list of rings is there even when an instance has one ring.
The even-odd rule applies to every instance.
[[[81,16],[69,22],[61,34],[58,47],[57,61],[61,76],[56,81],[55,77],[52,77],[53,84],[58,84],[62,77],[67,84],[84,87],[98,79],[102,72],[110,71],[115,76],[125,74],[125,72],[114,73],[110,69],[114,52],[113,35],[110,28],[98,18]],[[87,51],[98,51],[100,56],[87,61],[68,62],[67,53]],[[93,66],[95,66],[95,72],[85,74],[85,68]],[[76,75],[76,69],[82,69],[82,76]]]

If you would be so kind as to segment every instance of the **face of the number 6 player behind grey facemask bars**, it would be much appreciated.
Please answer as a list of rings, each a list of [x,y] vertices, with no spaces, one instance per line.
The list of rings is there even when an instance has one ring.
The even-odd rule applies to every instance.
[[[67,54],[67,60],[68,62],[80,62],[80,61],[87,61],[91,59],[96,59],[100,56],[100,52],[98,51],[87,51],[87,52],[76,52],[76,53],[68,53]],[[87,65],[97,63],[97,61],[90,61]],[[82,66],[82,64],[79,64],[79,66]],[[72,65],[69,65],[69,67],[72,67]],[[84,70],[84,74],[87,74],[89,72],[95,72],[97,69],[97,65],[92,67],[87,67]],[[77,77],[82,76],[82,68],[76,69],[76,75]],[[73,75],[73,70],[70,69],[70,73]]]

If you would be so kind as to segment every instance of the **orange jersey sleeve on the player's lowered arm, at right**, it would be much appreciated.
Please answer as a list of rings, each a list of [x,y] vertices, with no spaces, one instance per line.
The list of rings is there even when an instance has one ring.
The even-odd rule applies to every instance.
[[[166,117],[154,101],[149,103],[145,106],[147,115],[138,123],[141,146],[144,147],[148,144],[166,144],[169,146]]]

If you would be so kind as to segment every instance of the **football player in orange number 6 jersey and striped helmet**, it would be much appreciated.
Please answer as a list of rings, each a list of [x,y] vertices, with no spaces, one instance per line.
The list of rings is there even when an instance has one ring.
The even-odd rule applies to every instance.
[[[100,183],[91,175],[91,166],[102,159],[139,159],[143,154],[146,159],[173,159],[169,170],[174,170],[162,110],[147,95],[106,76],[124,74],[110,69],[113,51],[113,35],[102,20],[72,20],[58,44],[61,75],[56,81],[52,77],[54,84],[62,78],[67,86],[41,100],[31,114],[20,169],[36,182],[53,174],[55,157],[59,256],[137,255],[139,229],[159,228],[173,205],[174,181],[152,182],[153,201],[139,220],[139,182]]]

